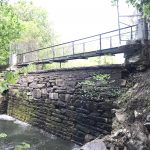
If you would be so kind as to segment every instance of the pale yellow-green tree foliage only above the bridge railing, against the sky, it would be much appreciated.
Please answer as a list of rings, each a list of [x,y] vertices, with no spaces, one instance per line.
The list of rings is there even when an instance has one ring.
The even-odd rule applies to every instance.
[[[13,7],[24,27],[21,38],[17,42],[29,46],[29,51],[54,43],[54,31],[45,9],[34,5],[32,0],[19,0]]]

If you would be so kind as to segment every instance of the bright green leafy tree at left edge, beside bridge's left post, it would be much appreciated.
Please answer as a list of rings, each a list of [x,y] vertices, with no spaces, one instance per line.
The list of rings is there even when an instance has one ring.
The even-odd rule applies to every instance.
[[[0,0],[0,65],[8,63],[9,44],[19,38],[20,20],[6,0]]]

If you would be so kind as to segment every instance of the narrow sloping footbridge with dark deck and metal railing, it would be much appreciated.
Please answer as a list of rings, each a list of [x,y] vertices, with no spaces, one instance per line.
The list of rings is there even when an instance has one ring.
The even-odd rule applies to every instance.
[[[136,30],[137,25],[133,25],[50,47],[21,50],[24,52],[17,53],[17,66],[62,63],[74,59],[124,53],[126,50],[138,48],[139,45],[133,42],[137,40]]]

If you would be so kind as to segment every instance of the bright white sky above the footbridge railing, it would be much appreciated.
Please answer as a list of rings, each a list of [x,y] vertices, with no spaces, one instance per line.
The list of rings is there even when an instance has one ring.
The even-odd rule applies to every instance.
[[[111,0],[34,0],[46,8],[61,42],[117,29],[117,9]],[[120,15],[131,14],[120,0]],[[124,20],[123,20],[124,21]],[[126,20],[125,20],[126,22]]]

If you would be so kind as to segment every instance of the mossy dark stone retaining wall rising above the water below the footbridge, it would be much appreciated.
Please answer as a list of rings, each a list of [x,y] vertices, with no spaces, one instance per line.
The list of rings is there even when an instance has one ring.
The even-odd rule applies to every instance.
[[[115,65],[22,76],[9,91],[8,114],[77,143],[109,134],[121,70]]]

